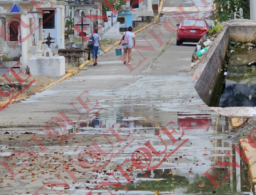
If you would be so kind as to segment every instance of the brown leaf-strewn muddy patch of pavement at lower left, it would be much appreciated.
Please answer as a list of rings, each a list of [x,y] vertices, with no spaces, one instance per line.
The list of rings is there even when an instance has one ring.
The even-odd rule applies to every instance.
[[[11,169],[14,173],[18,174],[12,179],[7,169],[1,166],[0,188],[5,188],[9,192],[12,192],[12,194],[30,194],[31,192],[39,190],[43,185],[49,187],[48,190],[43,190],[44,192],[49,192],[47,194],[53,194],[53,188],[56,187],[56,190],[60,194],[70,194],[69,188],[70,186],[74,187],[74,185],[72,185],[72,183],[74,184],[74,178],[79,179],[77,184],[84,181],[83,186],[81,186],[82,188],[86,188],[87,190],[89,188],[92,189],[99,181],[107,181],[110,171],[117,168],[119,162],[108,162],[110,155],[104,156],[104,154],[96,154],[95,160],[97,163],[89,163],[88,165],[91,166],[91,168],[83,167],[83,165],[85,165],[85,159],[93,159],[91,155],[94,153],[89,150],[89,145],[96,141],[98,145],[104,147],[104,145],[110,145],[111,142],[116,145],[119,150],[129,142],[129,140],[126,139],[127,141],[123,141],[123,143],[119,144],[116,138],[110,133],[106,134],[108,139],[95,133],[91,133],[90,135],[75,134],[70,139],[62,141],[62,147],[60,147],[60,137],[51,138],[45,133],[44,135],[36,135],[37,139],[41,140],[41,148],[39,148],[32,140],[32,136],[35,135],[35,133],[25,132],[18,134],[16,132],[8,132],[8,130],[2,130],[2,133],[4,134],[0,135],[0,152],[2,154],[0,156],[0,162],[6,162],[8,166],[12,167]],[[121,135],[120,137],[123,139],[126,136]],[[131,138],[132,137],[129,137],[129,139]],[[139,138],[140,137],[138,137],[138,139]],[[27,141],[30,148],[25,144]],[[106,149],[104,150],[106,151]],[[116,152],[114,154],[116,154]],[[122,152],[118,154],[121,159],[123,155],[127,154],[122,154]],[[22,162],[21,158],[24,162]],[[93,181],[89,181],[91,174],[93,174],[91,172],[92,169],[100,166],[102,166],[102,168],[94,173],[95,178]],[[127,164],[127,166],[132,169],[131,164]],[[70,173],[74,175],[70,177],[64,169],[70,169]],[[58,173],[60,173],[59,176]],[[63,177],[64,180],[60,177]],[[67,183],[65,184],[64,181]],[[64,190],[58,188],[61,186],[65,187]]]

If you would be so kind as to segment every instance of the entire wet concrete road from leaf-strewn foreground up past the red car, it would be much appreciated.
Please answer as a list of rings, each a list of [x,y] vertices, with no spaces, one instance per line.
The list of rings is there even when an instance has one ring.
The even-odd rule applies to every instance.
[[[188,3],[191,4],[190,1],[184,3],[186,7],[190,6]],[[165,1],[164,5],[178,6],[179,1]],[[163,14],[170,15],[169,12]],[[165,15],[160,18],[160,24],[163,24]],[[175,18],[170,18],[169,21],[177,24]],[[144,37],[150,29],[152,27],[137,34],[137,39]],[[26,101],[9,105],[0,112],[0,162],[2,165],[6,162],[12,166],[14,173],[20,171],[12,179],[9,171],[0,166],[0,194],[35,194],[37,190],[38,194],[89,194],[100,182],[112,182],[113,185],[117,183],[116,179],[123,188],[107,186],[112,194],[251,194],[245,168],[226,168],[233,175],[217,189],[203,176],[216,162],[229,161],[230,156],[225,155],[244,135],[230,134],[230,120],[214,113],[198,97],[190,75],[191,55],[196,45],[176,46],[175,31],[167,31],[165,27],[159,26],[157,33],[159,29],[163,32],[161,40],[166,43],[170,41],[170,46],[158,56],[165,44],[160,46],[156,40],[150,41],[152,45],[156,45],[156,51],[143,51],[148,60],[131,74],[120,60],[116,57],[113,59],[115,54],[112,50],[99,59],[98,66],[89,65],[74,77]],[[146,36],[146,39],[152,39],[152,36]],[[138,44],[148,46],[145,41]],[[133,52],[133,56],[134,64],[142,60],[138,53]],[[148,61],[155,58],[152,66],[145,67]],[[83,96],[83,100],[90,99],[91,102],[87,101],[90,108],[98,101],[98,106],[89,113],[74,101],[85,90],[89,94],[85,94],[87,96]],[[47,121],[59,116],[58,113],[63,109],[70,120],[76,121],[79,114],[74,107],[68,106],[72,101],[83,121],[102,108],[102,127],[85,126],[79,128],[70,139],[65,139],[71,135],[68,133],[73,128],[70,124],[66,130],[56,132],[64,133],[62,141],[60,137],[51,138],[45,132],[37,133],[37,139],[43,138],[41,144],[48,147],[45,150],[37,147],[33,140],[28,141],[30,148],[24,145],[33,133],[41,128],[45,130]],[[169,124],[171,121],[173,123]],[[177,132],[173,133],[178,140],[175,143],[161,131],[167,124],[168,132],[173,129]],[[120,142],[110,133],[109,128],[113,125],[123,141]],[[160,133],[159,137],[156,133]],[[94,148],[91,145],[94,141],[102,149],[101,152],[89,149]],[[166,145],[168,156],[165,158],[165,154],[157,156],[146,152],[146,158],[138,157],[142,162],[150,161],[150,167],[160,164],[156,170],[148,171],[147,175],[146,168],[138,168],[137,160],[132,161],[133,152],[136,154],[142,151],[141,148],[147,149],[144,147],[145,143],[150,143],[157,152],[164,151]],[[125,147],[126,145],[128,146]],[[37,156],[24,155],[24,152],[32,152],[31,150]],[[13,155],[14,151],[22,151],[18,154],[28,164],[26,168],[18,154]],[[232,155],[240,162],[238,154],[233,151]],[[125,160],[129,162],[125,162],[122,168],[126,171],[129,168],[127,175],[134,178],[129,184],[128,177],[114,171]],[[88,167],[83,164],[85,162]],[[96,168],[98,170],[93,171]],[[116,179],[110,175],[113,171]],[[225,175],[228,175],[221,167],[211,169],[209,173],[211,176],[214,173],[219,175],[219,179],[215,178],[217,183],[221,183]],[[240,176],[237,177],[238,175]],[[39,190],[42,186],[44,187]],[[103,187],[93,190],[93,194],[97,192],[110,194]]]

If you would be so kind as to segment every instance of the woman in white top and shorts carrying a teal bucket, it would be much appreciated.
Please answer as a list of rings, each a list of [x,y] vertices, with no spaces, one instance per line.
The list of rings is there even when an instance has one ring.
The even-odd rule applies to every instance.
[[[131,65],[131,50],[133,47],[135,47],[135,34],[132,33],[133,27],[129,26],[128,31],[123,33],[123,37],[120,40],[120,44],[123,45],[123,52],[124,52],[124,57],[125,61],[123,61],[123,64],[126,63],[126,58],[127,58],[127,52],[128,52],[128,64]]]

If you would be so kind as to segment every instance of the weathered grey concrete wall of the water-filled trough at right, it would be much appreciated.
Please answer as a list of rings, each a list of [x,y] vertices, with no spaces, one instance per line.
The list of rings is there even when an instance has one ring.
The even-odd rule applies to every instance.
[[[196,92],[208,106],[211,103],[230,41],[236,43],[255,42],[256,38],[256,22],[252,20],[230,20],[223,22],[222,25],[224,27],[221,33],[196,67],[192,69]]]

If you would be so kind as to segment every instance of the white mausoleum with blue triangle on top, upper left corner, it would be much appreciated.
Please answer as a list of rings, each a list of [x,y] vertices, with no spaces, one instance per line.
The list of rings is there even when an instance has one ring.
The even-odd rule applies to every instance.
[[[55,38],[54,44],[64,48],[65,6],[66,3],[56,0],[1,0],[1,55],[21,55],[20,66],[26,69],[32,56],[31,46],[46,41],[49,33]]]

